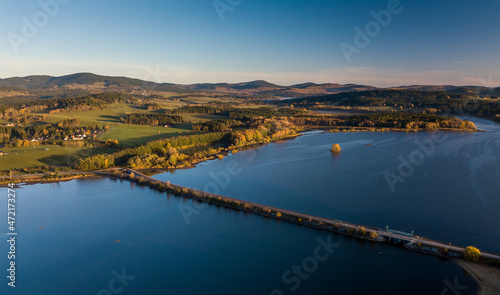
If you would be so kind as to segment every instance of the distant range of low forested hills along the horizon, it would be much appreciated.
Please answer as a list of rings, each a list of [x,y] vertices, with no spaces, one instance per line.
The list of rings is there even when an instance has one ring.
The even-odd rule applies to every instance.
[[[155,83],[127,77],[100,76],[92,73],[77,73],[61,77],[53,76],[26,76],[0,79],[0,97],[6,97],[5,92],[25,93],[33,95],[33,91],[52,96],[50,93],[98,93],[98,92],[124,92],[140,94],[146,91],[172,93],[203,93],[213,95],[242,95],[262,98],[272,97],[306,97],[311,95],[326,95],[340,92],[368,91],[380,89],[368,85],[357,84],[316,84],[312,82],[281,86],[263,80],[244,83],[201,83],[201,84],[172,84]],[[481,86],[453,86],[453,85],[411,85],[391,87],[390,89],[411,89],[424,91],[447,91],[458,94],[478,94],[500,96],[500,88],[487,88]],[[40,92],[41,91],[41,92]],[[9,95],[12,97],[13,95]]]

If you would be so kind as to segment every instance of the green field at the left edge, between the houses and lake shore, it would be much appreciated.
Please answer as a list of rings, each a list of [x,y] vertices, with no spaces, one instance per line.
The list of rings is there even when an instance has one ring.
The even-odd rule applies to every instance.
[[[45,150],[48,148],[49,150]],[[2,148],[7,155],[0,156],[0,171],[38,166],[71,164],[91,154],[111,153],[114,149],[91,147],[61,147],[40,145],[36,147]]]

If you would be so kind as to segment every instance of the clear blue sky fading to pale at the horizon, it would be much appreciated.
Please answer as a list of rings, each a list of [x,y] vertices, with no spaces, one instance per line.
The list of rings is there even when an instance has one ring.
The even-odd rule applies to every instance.
[[[500,86],[498,0],[0,0],[0,9],[2,78]],[[382,10],[384,25],[371,13]],[[363,46],[356,27],[369,33]]]

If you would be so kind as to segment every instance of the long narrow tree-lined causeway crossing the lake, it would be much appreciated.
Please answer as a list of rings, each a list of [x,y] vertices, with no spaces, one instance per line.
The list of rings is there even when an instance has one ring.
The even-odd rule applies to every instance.
[[[237,211],[261,215],[264,217],[295,223],[319,230],[329,231],[358,239],[368,240],[377,243],[386,243],[402,246],[406,249],[440,256],[448,259],[465,259],[466,248],[452,245],[436,240],[427,239],[410,233],[396,230],[382,229],[372,226],[352,224],[340,220],[328,219],[319,216],[303,214],[295,211],[284,210],[276,207],[266,206],[253,202],[234,199],[222,195],[208,193],[185,186],[171,184],[154,179],[143,173],[132,169],[112,169],[113,172],[96,171],[94,174],[112,178],[127,179],[139,185],[149,186],[160,191],[166,191],[180,197],[189,198],[194,201],[230,208]],[[123,171],[125,173],[123,173]],[[130,175],[133,173],[133,177]],[[500,267],[500,255],[481,252],[481,263]]]

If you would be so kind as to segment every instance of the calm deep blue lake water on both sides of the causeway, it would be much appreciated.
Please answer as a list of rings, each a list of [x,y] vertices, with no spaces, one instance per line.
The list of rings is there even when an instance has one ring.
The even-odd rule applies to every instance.
[[[310,133],[155,177],[500,253],[500,127],[474,122],[487,132]],[[413,171],[398,171],[410,157]],[[404,182],[391,189],[388,173]],[[449,261],[126,181],[24,186],[16,205],[17,287],[0,234],[1,294],[443,294],[455,280],[461,294],[477,290]],[[1,232],[6,219],[0,210]],[[321,248],[328,241],[334,249]]]

